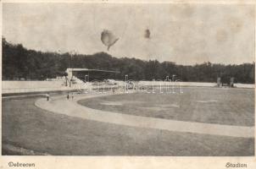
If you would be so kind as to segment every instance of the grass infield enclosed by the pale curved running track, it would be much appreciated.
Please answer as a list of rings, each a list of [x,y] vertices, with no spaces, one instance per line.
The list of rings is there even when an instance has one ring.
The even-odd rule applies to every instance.
[[[184,88],[176,94],[124,94],[79,101],[109,112],[181,121],[254,126],[254,90]]]

